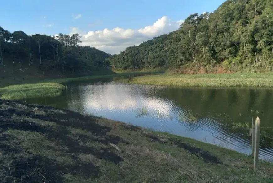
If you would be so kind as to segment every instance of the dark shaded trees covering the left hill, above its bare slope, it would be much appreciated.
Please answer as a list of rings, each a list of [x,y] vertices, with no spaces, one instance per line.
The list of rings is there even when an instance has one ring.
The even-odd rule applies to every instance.
[[[23,31],[10,33],[0,27],[0,64],[36,64],[45,71],[62,74],[90,74],[101,67],[110,67],[110,54],[89,46],[79,46],[78,34],[57,36],[27,35]]]

